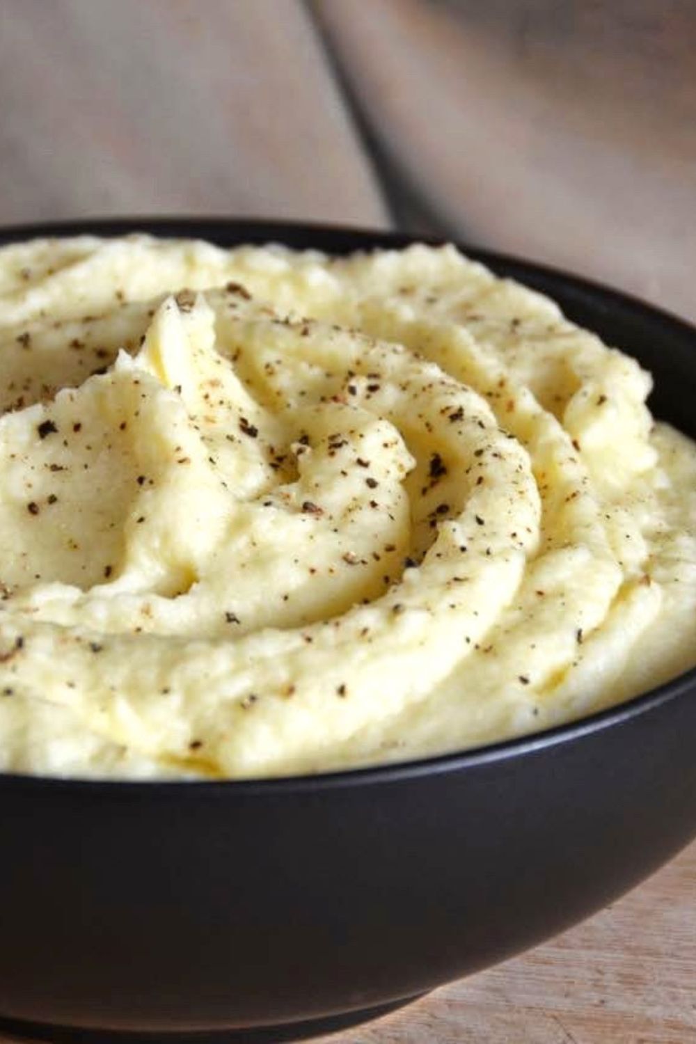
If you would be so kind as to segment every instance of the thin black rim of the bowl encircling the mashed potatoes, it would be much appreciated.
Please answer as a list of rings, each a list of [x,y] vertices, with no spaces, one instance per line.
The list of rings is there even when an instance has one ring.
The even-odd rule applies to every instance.
[[[143,232],[147,235],[163,238],[202,238],[199,232],[192,236],[187,228],[197,227],[207,230],[210,241],[215,242],[215,230],[224,228],[234,233],[238,245],[243,245],[244,234],[251,237],[255,243],[283,244],[284,235],[307,234],[310,237],[343,237],[355,240],[355,251],[360,250],[403,250],[413,243],[426,243],[432,246],[453,244],[472,260],[480,261],[494,270],[498,267],[519,269],[515,281],[524,282],[524,274],[537,275],[542,278],[559,279],[571,287],[583,291],[591,298],[604,302],[607,306],[638,313],[639,318],[659,323],[671,328],[672,332],[693,339],[696,351],[696,326],[658,306],[607,286],[601,282],[577,276],[562,268],[547,265],[536,261],[528,261],[515,255],[480,247],[474,243],[463,242],[457,237],[419,236],[417,234],[392,231],[389,229],[369,229],[353,224],[334,224],[322,221],[294,221],[282,218],[256,218],[215,215],[136,215],[134,217],[87,217],[56,221],[38,221],[30,223],[10,223],[0,226],[0,250],[15,242],[34,238],[52,238],[64,236],[95,235],[122,236]],[[260,233],[267,238],[263,239]],[[206,237],[207,238],[207,237]],[[317,250],[331,253],[329,245],[291,247],[294,250]],[[345,253],[345,252],[341,252]],[[641,718],[657,711],[667,704],[686,697],[696,687],[696,666],[690,668],[668,682],[654,686],[646,692],[622,701],[615,706],[605,708],[582,717],[572,719],[550,729],[525,733],[510,739],[498,740],[464,751],[446,754],[429,755],[411,758],[404,761],[390,761],[383,764],[369,764],[355,768],[341,768],[331,772],[318,772],[311,775],[290,775],[271,777],[244,777],[241,779],[118,779],[100,777],[64,777],[39,776],[20,773],[1,773],[0,789],[17,788],[44,790],[90,796],[123,796],[124,798],[142,799],[148,797],[176,797],[183,794],[200,796],[201,793],[217,797],[250,797],[254,794],[296,794],[315,792],[317,790],[334,790],[355,786],[397,783],[402,780],[414,780],[424,776],[438,776],[452,772],[463,772],[467,768],[485,766],[495,762],[509,761],[525,755],[533,755],[539,751],[555,748],[560,744],[575,742],[607,729],[618,728],[628,720]],[[692,692],[692,695],[694,693]]]

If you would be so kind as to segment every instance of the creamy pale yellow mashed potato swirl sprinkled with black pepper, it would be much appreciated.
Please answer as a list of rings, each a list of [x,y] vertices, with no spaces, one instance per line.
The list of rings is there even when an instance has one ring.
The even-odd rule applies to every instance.
[[[454,247],[0,251],[0,767],[312,773],[696,661],[696,448]]]

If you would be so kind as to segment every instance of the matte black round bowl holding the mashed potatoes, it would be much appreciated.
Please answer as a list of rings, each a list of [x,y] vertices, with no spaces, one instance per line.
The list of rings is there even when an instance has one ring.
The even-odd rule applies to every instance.
[[[227,220],[2,240],[134,229],[335,253],[408,242]],[[470,253],[637,356],[655,376],[653,411],[696,434],[696,330]],[[686,845],[695,737],[691,670],[574,725],[398,766],[227,783],[0,778],[0,1028],[270,1042],[386,1011],[587,917]]]

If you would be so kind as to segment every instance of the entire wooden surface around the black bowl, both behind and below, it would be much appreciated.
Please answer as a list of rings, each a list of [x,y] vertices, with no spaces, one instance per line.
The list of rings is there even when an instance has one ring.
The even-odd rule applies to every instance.
[[[693,0],[0,0],[0,223],[397,224],[696,319]],[[696,847],[343,1044],[696,1042]]]

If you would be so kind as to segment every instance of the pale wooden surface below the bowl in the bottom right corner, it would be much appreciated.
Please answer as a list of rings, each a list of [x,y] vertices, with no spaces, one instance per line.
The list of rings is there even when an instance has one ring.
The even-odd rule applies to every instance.
[[[696,845],[544,946],[317,1044],[694,1044]]]

